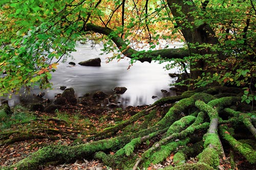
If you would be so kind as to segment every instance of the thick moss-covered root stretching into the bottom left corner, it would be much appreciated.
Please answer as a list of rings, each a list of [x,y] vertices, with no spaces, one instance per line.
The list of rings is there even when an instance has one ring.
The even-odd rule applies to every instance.
[[[70,162],[71,160],[82,159],[84,157],[90,158],[99,151],[122,148],[125,141],[129,141],[129,139],[129,136],[123,136],[122,138],[99,140],[92,143],[76,145],[74,147],[68,147],[66,145],[51,145],[38,150],[12,166],[3,167],[2,169],[38,169],[38,165],[52,160],[58,162]]]

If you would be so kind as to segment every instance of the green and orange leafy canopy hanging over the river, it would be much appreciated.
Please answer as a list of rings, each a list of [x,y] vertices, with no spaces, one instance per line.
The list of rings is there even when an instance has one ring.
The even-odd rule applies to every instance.
[[[194,48],[209,53],[174,58],[170,66],[180,64],[184,66],[183,71],[187,68],[201,70],[196,86],[218,82],[252,89],[256,74],[255,2],[195,0],[183,1],[183,5],[169,2],[176,1],[2,0],[0,74],[6,75],[0,80],[0,94],[18,92],[22,85],[49,87],[50,72],[55,71],[58,61],[75,51],[76,42],[81,38],[106,40],[102,50],[118,51],[119,55],[114,57],[120,59],[120,53],[127,46],[115,46],[111,41],[113,37],[120,36],[129,47],[145,42],[155,50],[160,39],[168,43],[185,40],[182,29],[195,31],[205,25],[212,28],[211,36],[217,37],[218,43],[206,40],[188,44],[185,41],[188,50]],[[188,13],[182,12],[184,5],[191,7]],[[177,8],[179,15],[172,14],[172,8]],[[187,18],[188,15],[194,20]],[[87,32],[87,23],[108,27],[113,32],[108,36]],[[168,48],[168,44],[160,47]],[[161,54],[156,59],[170,60],[162,58]],[[203,67],[192,67],[201,60]],[[249,99],[249,94],[245,95]]]

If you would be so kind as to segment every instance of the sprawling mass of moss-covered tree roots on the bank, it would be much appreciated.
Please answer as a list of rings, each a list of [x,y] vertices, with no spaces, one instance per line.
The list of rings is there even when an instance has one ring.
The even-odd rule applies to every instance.
[[[129,120],[93,135],[98,141],[76,146],[50,145],[3,169],[37,169],[38,165],[53,160],[70,162],[84,158],[100,159],[118,169],[141,169],[159,164],[171,154],[174,155],[173,165],[164,169],[218,169],[222,163],[236,166],[232,157],[234,152],[241,154],[249,163],[256,163],[255,127],[248,114],[233,110],[240,108],[241,99],[233,89],[226,87],[201,91],[187,91],[180,96],[161,99]],[[162,118],[156,117],[157,109],[166,103],[175,104]],[[138,119],[145,122],[141,123],[139,130],[129,131]],[[154,122],[155,119],[157,121]],[[246,132],[248,138],[236,140],[233,136],[239,134],[241,127],[251,134]],[[127,133],[117,134],[119,130]],[[102,137],[109,139],[99,140]],[[226,149],[227,143],[231,149]],[[231,154],[229,160],[225,154]],[[195,158],[193,163],[189,162],[190,157]]]

